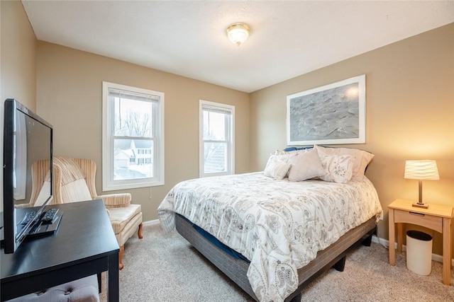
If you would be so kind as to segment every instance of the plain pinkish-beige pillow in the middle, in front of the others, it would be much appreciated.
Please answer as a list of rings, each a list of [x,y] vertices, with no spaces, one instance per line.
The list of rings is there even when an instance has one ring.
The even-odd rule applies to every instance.
[[[319,153],[315,149],[299,153],[292,158],[292,167],[289,170],[290,181],[303,181],[309,178],[325,175],[321,165]]]

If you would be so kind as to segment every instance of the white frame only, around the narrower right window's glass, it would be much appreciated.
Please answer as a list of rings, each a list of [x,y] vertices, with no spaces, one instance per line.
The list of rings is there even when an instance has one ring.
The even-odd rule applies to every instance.
[[[204,108],[226,110],[231,112],[231,119],[226,127],[227,170],[221,173],[204,172]],[[235,106],[215,103],[209,100],[199,100],[199,177],[221,176],[235,174]]]

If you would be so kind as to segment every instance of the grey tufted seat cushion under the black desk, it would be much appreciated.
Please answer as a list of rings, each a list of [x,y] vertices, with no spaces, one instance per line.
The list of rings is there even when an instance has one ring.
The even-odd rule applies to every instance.
[[[96,274],[51,287],[33,294],[21,296],[8,302],[99,302],[99,285]]]

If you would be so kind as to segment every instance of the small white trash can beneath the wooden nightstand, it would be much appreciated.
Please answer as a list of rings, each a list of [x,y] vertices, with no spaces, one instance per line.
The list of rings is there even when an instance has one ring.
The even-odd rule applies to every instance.
[[[432,270],[432,236],[420,231],[406,232],[406,268],[427,276]]]

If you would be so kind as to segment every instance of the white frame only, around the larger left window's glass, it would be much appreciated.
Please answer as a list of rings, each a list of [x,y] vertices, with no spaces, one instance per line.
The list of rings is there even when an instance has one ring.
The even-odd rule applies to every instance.
[[[115,105],[109,102],[109,88],[131,93],[155,95],[159,98],[158,110],[153,117],[154,135],[154,177],[135,180],[114,180],[114,122]],[[102,82],[102,190],[125,190],[137,187],[153,187],[164,185],[164,93],[150,91],[116,83]]]

